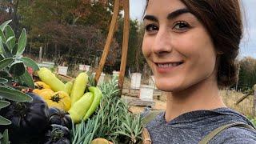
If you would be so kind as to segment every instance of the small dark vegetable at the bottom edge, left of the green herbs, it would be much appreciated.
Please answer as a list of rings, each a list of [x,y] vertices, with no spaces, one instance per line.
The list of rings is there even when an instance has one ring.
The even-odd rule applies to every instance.
[[[66,126],[52,124],[45,134],[44,144],[70,144],[70,130]]]

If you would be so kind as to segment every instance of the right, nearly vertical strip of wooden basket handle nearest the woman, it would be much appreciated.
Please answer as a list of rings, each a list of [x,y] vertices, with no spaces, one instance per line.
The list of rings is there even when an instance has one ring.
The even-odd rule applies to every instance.
[[[128,41],[129,41],[129,29],[130,29],[130,10],[129,10],[129,0],[124,0],[124,26],[123,26],[123,35],[122,35],[122,59],[120,66],[120,74],[118,78],[118,86],[122,93],[122,86],[124,81],[124,75],[126,72],[126,58],[128,51]]]

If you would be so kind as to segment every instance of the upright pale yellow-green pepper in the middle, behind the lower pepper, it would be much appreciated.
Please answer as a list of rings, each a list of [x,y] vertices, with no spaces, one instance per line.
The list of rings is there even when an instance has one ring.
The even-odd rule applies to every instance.
[[[88,75],[85,72],[78,74],[77,78],[74,79],[74,84],[70,94],[71,106],[82,97],[86,90],[87,82]]]

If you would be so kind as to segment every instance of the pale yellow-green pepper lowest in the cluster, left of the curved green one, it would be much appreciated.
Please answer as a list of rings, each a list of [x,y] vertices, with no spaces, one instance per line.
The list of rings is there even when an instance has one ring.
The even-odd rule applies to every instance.
[[[94,100],[94,95],[91,92],[87,92],[71,106],[69,113],[70,118],[74,123],[78,123],[82,120],[83,116],[86,114],[86,111],[90,108]]]

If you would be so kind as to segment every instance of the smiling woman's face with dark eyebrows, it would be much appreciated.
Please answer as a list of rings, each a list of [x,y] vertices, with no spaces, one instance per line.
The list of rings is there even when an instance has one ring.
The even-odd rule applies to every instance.
[[[210,34],[181,1],[150,0],[144,25],[142,51],[158,89],[180,91],[217,79]]]

